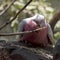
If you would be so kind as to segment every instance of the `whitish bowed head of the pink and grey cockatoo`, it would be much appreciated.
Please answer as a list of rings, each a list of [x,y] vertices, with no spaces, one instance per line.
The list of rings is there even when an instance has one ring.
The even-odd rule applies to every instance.
[[[45,26],[46,25],[46,20],[45,20],[45,17],[43,15],[40,15],[40,14],[36,14],[34,16],[34,21],[40,25],[41,27]]]

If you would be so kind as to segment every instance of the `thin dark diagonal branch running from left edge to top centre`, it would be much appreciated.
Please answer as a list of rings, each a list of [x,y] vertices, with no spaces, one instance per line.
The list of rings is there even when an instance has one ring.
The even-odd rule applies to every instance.
[[[13,17],[13,19],[11,19],[11,20],[7,21],[5,24],[3,24],[3,25],[0,27],[0,30],[1,30],[2,28],[4,28],[5,26],[7,26],[8,24],[10,24],[12,21],[14,21],[14,20],[16,19],[16,17],[30,4],[31,1],[32,1],[32,0],[30,0],[21,10],[19,10],[19,11],[17,12],[17,14],[15,15],[15,17]]]

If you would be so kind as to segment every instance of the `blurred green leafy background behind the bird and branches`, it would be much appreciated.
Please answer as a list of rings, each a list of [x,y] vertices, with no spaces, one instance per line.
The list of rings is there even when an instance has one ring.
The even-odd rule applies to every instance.
[[[13,0],[0,0],[0,13],[12,2]],[[0,15],[0,26],[6,23],[7,21],[11,20],[16,13],[24,7],[24,5],[29,0],[16,0],[13,2],[13,5],[2,15]],[[18,31],[18,24],[19,22],[27,17],[31,17],[36,13],[42,14],[45,16],[46,21],[51,23],[52,18],[55,15],[60,15],[60,0],[33,0],[11,23],[8,24],[6,27],[0,30],[0,33],[13,33]],[[58,15],[59,14],[59,15]],[[60,17],[60,16],[59,16]],[[54,32],[54,39],[57,41],[60,38],[60,18],[54,20],[51,24],[53,26]],[[17,40],[18,36],[0,36],[0,40],[9,40],[15,41]]]

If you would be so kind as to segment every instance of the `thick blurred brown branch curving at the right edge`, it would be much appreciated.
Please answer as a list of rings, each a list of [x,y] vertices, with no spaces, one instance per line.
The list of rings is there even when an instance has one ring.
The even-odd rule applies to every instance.
[[[54,32],[54,27],[55,27],[56,23],[59,21],[59,19],[60,19],[60,11],[56,12],[53,15],[53,18],[50,20],[50,25],[51,25],[53,32]]]

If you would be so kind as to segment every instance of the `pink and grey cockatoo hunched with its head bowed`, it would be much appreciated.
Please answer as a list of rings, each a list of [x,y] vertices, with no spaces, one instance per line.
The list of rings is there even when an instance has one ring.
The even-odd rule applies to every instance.
[[[19,32],[32,31],[42,27],[45,28],[39,30],[38,32],[19,35],[19,41],[28,41],[33,45],[43,46],[52,44],[53,32],[43,15],[36,14],[33,17],[23,19],[19,23],[18,31]]]

